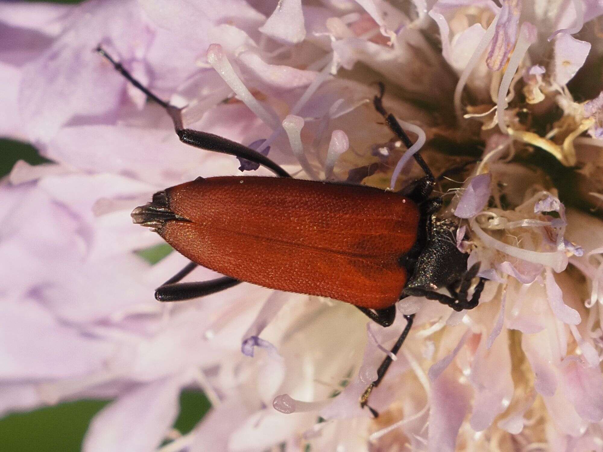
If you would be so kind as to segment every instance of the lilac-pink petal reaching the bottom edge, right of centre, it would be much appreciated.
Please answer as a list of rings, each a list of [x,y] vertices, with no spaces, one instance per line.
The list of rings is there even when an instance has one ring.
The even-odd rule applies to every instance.
[[[459,383],[453,372],[432,381],[429,397],[428,450],[453,452],[458,430],[469,409],[471,391]]]

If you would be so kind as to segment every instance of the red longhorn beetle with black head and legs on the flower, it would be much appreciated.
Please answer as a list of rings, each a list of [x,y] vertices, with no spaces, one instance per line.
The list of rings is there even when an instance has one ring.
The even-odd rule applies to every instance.
[[[409,296],[437,300],[457,311],[478,305],[484,278],[470,299],[467,294],[479,263],[467,270],[468,255],[457,250],[452,239],[457,225],[435,216],[442,199],[430,197],[435,178],[420,155],[414,154],[414,159],[425,177],[398,193],[293,179],[254,149],[183,128],[180,108],[142,86],[103,48],[96,51],[165,108],[182,142],[250,160],[280,176],[199,177],[157,192],[153,201],[133,210],[134,223],[150,227],[191,260],[157,288],[157,300],[191,300],[246,281],[346,301],[384,327],[394,321],[394,304]],[[408,136],[382,105],[384,86],[379,87],[374,106],[409,148]],[[197,265],[227,276],[180,283]],[[442,287],[450,295],[438,293]],[[391,349],[394,355],[408,336],[414,314],[405,319],[406,327]],[[361,397],[362,407],[391,362],[388,355],[377,369],[377,379]]]

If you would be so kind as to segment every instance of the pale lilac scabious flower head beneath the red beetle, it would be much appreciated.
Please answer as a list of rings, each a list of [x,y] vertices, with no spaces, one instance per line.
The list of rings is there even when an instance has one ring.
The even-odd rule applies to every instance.
[[[601,14],[589,0],[1,4],[0,131],[54,162],[0,184],[1,412],[113,398],[87,452],[603,451],[603,222],[585,211],[603,199]],[[186,127],[295,177],[399,189],[423,175],[419,149],[436,174],[479,158],[443,182],[438,213],[481,263],[479,306],[408,297],[382,328],[250,284],[156,303],[186,260],[142,259],[162,242],[131,209],[198,176],[268,171],[180,143],[99,44]],[[371,104],[376,81],[408,151]],[[358,399],[412,313],[373,419]],[[179,436],[185,388],[213,407]]]

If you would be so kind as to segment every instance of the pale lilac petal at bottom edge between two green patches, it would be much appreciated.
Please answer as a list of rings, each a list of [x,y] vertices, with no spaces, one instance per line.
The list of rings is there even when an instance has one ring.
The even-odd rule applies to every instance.
[[[155,450],[176,420],[184,383],[182,377],[170,377],[122,395],[92,419],[82,450]]]

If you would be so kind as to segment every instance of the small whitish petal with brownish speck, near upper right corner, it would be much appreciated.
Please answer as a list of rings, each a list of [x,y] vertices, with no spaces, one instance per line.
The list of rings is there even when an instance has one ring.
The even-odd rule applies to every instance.
[[[553,80],[563,86],[572,80],[590,52],[590,42],[575,39],[567,33],[555,37]]]

